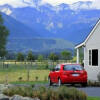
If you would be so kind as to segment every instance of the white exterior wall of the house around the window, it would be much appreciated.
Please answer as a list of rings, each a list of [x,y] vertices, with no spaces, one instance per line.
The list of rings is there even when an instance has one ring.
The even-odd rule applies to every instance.
[[[89,65],[89,50],[98,49],[98,66]],[[88,72],[89,80],[97,80],[100,72],[100,23],[85,44],[84,66]]]

